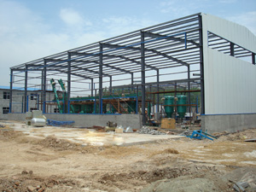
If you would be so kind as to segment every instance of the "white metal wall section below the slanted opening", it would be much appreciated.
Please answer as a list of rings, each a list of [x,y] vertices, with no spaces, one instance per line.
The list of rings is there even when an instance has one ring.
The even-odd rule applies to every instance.
[[[207,48],[205,112],[256,113],[256,66]]]

